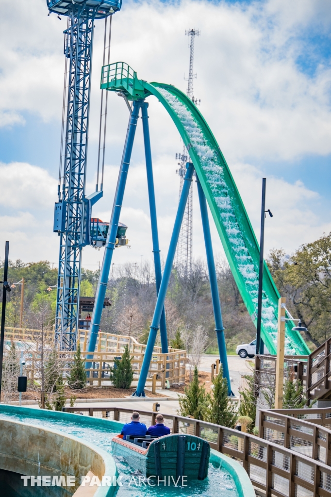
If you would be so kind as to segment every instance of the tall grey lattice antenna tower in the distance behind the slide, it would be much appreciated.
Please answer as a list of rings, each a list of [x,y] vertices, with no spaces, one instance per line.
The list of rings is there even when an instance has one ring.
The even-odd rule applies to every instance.
[[[184,78],[187,83],[187,96],[194,102],[193,95],[193,79],[196,78],[196,74],[193,74],[193,61],[194,61],[194,38],[195,36],[200,36],[200,31],[198,29],[188,29],[185,31],[186,36],[190,36],[190,67],[188,73],[188,79]],[[189,159],[188,152],[186,150],[185,145],[183,145],[182,154],[176,154],[176,159],[179,159],[179,169],[177,169],[177,173],[180,177],[179,184],[179,198],[181,195],[181,190],[183,188],[183,178],[185,176],[185,166],[186,162]],[[176,250],[176,266],[183,270],[184,275],[188,274],[192,268],[192,213],[193,213],[193,183],[191,183],[185,213],[183,217],[183,222],[181,225],[181,230],[179,234],[179,240]]]

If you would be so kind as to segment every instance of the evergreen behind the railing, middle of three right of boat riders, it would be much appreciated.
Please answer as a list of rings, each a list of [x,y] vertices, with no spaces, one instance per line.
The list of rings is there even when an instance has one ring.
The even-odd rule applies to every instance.
[[[231,402],[228,397],[228,382],[226,378],[223,378],[222,365],[220,365],[219,374],[213,379],[213,385],[213,393],[208,395],[208,421],[234,428],[238,418],[237,403]]]

